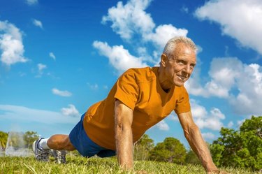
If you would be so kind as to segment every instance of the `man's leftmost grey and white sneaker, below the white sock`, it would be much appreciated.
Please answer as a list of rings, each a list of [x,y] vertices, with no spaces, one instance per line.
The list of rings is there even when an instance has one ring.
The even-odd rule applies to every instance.
[[[34,152],[36,160],[38,160],[38,161],[49,161],[50,150],[43,150],[43,148],[38,147],[38,144],[42,139],[43,138],[39,138],[38,140],[34,141],[33,152]]]

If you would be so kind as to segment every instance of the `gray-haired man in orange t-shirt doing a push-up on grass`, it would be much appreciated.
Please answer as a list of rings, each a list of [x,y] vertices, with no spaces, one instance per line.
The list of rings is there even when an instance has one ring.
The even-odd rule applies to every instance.
[[[50,149],[78,150],[84,157],[117,154],[119,165],[133,167],[133,143],[173,110],[184,136],[208,173],[219,172],[194,123],[184,88],[196,65],[196,45],[186,37],[166,44],[160,67],[131,68],[123,73],[107,98],[91,106],[68,135],[54,135],[34,143],[36,159],[47,161]],[[60,151],[62,150],[62,151]],[[63,155],[62,158],[65,159]]]

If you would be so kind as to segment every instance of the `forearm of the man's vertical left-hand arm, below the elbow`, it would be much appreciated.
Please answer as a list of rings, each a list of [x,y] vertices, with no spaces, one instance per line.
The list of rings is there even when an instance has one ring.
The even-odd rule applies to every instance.
[[[115,128],[117,160],[124,169],[133,168],[133,138],[131,127],[119,124]]]

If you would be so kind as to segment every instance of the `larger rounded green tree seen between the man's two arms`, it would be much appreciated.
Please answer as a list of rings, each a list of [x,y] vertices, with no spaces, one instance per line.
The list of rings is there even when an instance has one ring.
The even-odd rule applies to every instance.
[[[183,164],[185,157],[186,149],[176,138],[166,138],[150,151],[150,159],[155,161]]]

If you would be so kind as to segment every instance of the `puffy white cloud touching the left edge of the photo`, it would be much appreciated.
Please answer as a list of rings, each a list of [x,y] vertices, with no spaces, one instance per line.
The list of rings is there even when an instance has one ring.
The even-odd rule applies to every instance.
[[[26,62],[22,32],[8,21],[0,21],[0,50],[1,62],[10,66],[18,62]]]

